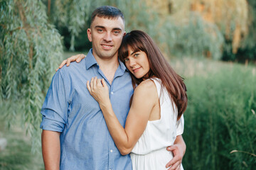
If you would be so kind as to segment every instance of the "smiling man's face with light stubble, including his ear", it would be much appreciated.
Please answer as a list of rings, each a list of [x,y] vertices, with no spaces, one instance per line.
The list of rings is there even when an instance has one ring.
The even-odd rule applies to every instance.
[[[121,17],[108,19],[96,16],[87,29],[88,39],[92,42],[92,54],[103,60],[117,57],[124,34]]]

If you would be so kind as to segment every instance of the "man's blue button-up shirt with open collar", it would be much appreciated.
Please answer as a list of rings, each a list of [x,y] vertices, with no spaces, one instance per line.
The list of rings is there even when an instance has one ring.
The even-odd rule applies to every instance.
[[[129,155],[119,153],[99,104],[87,90],[92,77],[107,82],[112,108],[124,127],[133,94],[129,72],[119,62],[110,84],[90,50],[80,63],[72,62],[54,75],[41,110],[41,128],[61,132],[60,169],[132,169]]]

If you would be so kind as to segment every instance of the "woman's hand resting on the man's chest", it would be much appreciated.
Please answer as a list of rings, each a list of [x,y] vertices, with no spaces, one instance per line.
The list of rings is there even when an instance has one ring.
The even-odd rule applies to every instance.
[[[110,104],[110,94],[104,79],[92,77],[90,83],[87,81],[87,89],[100,106]]]

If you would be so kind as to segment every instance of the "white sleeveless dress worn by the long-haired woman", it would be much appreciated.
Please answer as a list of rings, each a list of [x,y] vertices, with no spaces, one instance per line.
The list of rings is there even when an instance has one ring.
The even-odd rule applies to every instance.
[[[152,79],[159,94],[161,118],[148,121],[146,129],[131,152],[133,170],[161,170],[173,158],[166,147],[174,145],[177,135],[183,133],[184,119],[177,121],[177,108],[169,98],[165,88],[161,90],[161,80]],[[181,170],[183,169],[181,165]]]

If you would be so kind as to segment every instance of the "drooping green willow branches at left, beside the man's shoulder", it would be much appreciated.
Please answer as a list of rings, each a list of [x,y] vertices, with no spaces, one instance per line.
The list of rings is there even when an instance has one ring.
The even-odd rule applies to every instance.
[[[63,48],[41,1],[0,1],[0,108],[9,125],[40,134],[41,106]],[[32,140],[39,145],[40,140]],[[36,148],[36,147],[33,147]]]

